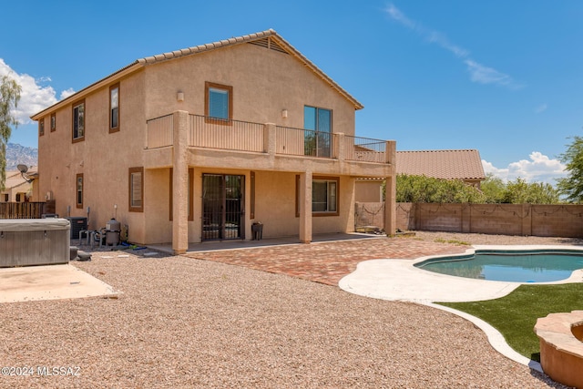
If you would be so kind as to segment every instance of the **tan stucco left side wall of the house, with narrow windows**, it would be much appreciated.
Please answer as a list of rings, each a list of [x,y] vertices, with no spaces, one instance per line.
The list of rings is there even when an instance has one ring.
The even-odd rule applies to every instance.
[[[112,83],[113,84],[113,83]],[[72,105],[56,111],[56,131],[46,116],[45,135],[38,139],[39,190],[56,200],[56,213],[87,216],[89,229],[105,227],[117,215],[130,237],[143,240],[143,214],[128,212],[128,168],[143,165],[146,123],[143,73],[120,81],[120,131],[109,133],[109,86],[85,97],[85,140],[72,143]],[[83,209],[77,209],[76,178],[83,174]],[[118,205],[115,210],[114,206]]]

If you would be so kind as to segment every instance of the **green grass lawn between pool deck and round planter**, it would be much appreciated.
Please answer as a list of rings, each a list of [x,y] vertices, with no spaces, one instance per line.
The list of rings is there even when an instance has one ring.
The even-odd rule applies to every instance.
[[[437,302],[488,322],[517,353],[540,362],[537,318],[583,310],[583,283],[520,285],[505,297],[485,302]]]

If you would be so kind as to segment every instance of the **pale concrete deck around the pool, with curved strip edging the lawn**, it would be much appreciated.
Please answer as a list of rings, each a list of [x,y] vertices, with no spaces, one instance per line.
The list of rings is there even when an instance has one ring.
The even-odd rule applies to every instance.
[[[338,286],[345,292],[366,297],[387,301],[416,302],[454,313],[476,324],[478,328],[484,331],[488,342],[498,353],[537,372],[544,373],[540,363],[517,353],[506,343],[504,336],[487,322],[468,313],[438,305],[435,302],[492,300],[506,296],[521,284],[543,285],[583,282],[583,269],[573,271],[567,279],[555,282],[500,282],[467,279],[425,271],[414,266],[415,263],[434,258],[473,254],[476,250],[574,250],[583,252],[583,247],[573,245],[473,245],[461,254],[428,255],[413,261],[402,259],[363,261],[358,264],[355,271],[343,277]],[[464,296],[464,298],[460,296]]]

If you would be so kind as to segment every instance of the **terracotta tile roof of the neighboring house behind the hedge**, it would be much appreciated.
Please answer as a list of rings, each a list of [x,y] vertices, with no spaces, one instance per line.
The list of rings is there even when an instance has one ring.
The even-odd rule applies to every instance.
[[[436,179],[486,179],[476,149],[397,151],[396,169],[397,174]]]

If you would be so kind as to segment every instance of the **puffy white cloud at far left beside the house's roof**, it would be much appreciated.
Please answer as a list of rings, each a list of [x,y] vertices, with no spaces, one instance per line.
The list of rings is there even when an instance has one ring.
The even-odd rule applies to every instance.
[[[51,81],[50,77],[34,78],[27,74],[18,74],[0,58],[0,76],[5,75],[15,79],[18,85],[22,87],[18,107],[14,110],[15,117],[21,124],[30,124],[32,122],[31,115],[52,106],[58,101],[55,89],[50,85],[45,85]],[[73,93],[72,89],[67,89],[61,92],[61,98],[70,96]]]

